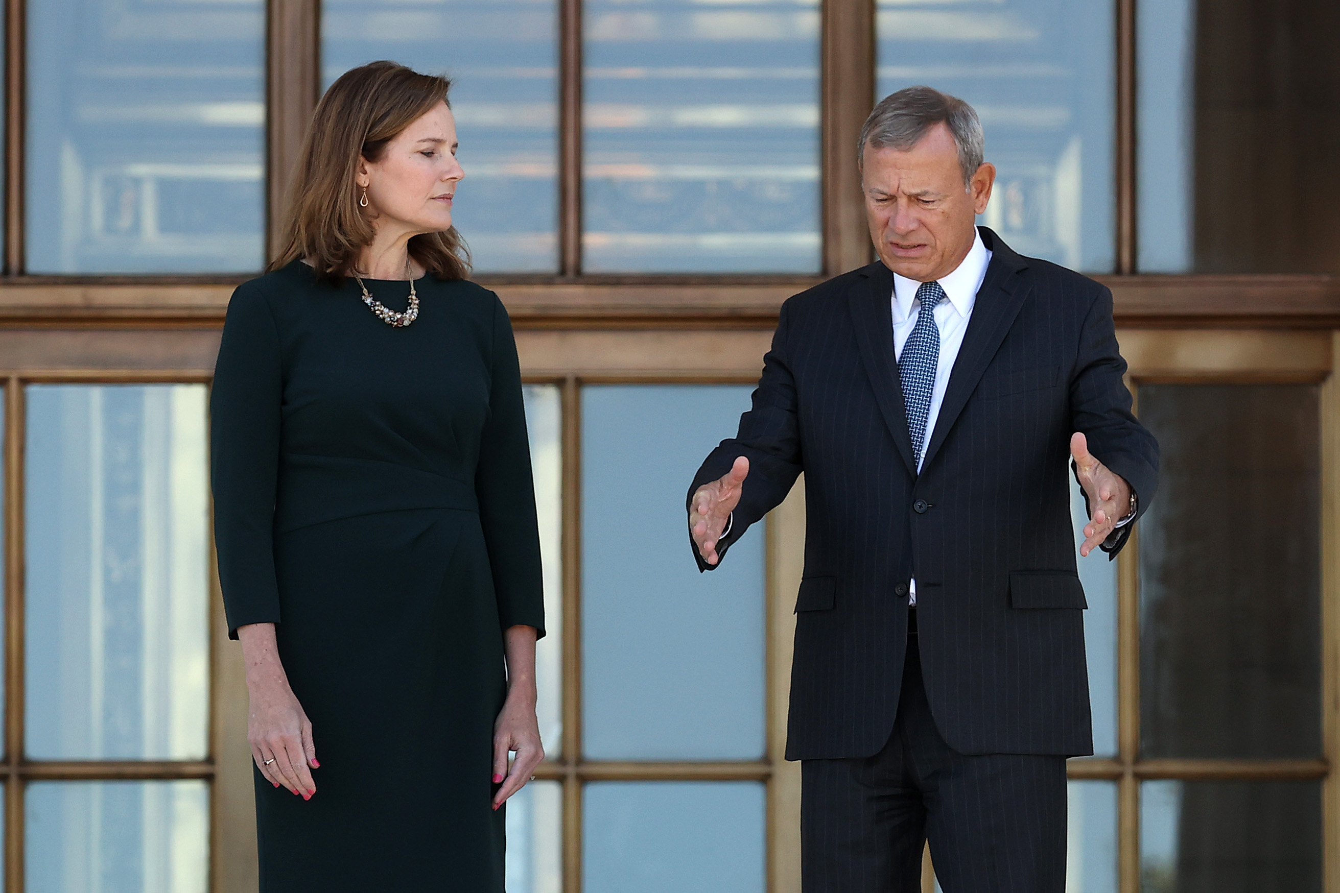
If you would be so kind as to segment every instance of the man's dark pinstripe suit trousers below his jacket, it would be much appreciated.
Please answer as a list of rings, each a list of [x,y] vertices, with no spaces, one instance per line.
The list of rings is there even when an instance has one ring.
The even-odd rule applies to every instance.
[[[804,893],[918,893],[927,839],[945,893],[1065,890],[1065,758],[951,750],[915,633],[888,743],[801,777]]]

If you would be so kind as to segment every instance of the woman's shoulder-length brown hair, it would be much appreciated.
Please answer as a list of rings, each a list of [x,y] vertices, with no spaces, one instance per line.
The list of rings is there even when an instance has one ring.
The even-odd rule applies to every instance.
[[[279,269],[307,258],[324,281],[339,284],[354,272],[359,252],[373,244],[373,222],[358,205],[354,182],[359,158],[375,162],[402,130],[437,103],[452,82],[421,75],[394,62],[351,68],[316,104],[288,193]],[[469,250],[456,228],[414,236],[409,253],[438,278],[465,278]]]

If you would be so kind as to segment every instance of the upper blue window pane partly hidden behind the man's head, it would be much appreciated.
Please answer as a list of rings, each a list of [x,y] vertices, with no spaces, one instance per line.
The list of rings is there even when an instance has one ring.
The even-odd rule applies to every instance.
[[[998,174],[980,222],[1022,254],[1111,270],[1112,4],[879,0],[878,16],[880,96],[929,84],[982,119]]]

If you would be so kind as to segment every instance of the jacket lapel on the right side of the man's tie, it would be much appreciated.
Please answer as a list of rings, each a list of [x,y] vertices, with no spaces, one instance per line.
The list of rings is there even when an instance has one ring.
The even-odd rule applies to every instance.
[[[922,467],[935,458],[939,446],[949,436],[949,430],[954,427],[959,412],[973,395],[977,383],[990,364],[992,357],[1000,348],[1001,341],[1009,332],[1010,325],[1018,316],[1024,300],[1029,295],[1028,285],[1018,276],[1018,272],[1028,268],[1022,257],[1016,254],[996,233],[982,229],[982,241],[992,249],[992,262],[986,268],[986,278],[977,291],[977,303],[973,304],[973,316],[967,320],[967,331],[963,332],[963,344],[958,349],[958,359],[949,374],[949,387],[945,390],[945,400],[939,406],[939,415],[935,418],[935,430],[931,432],[930,444],[926,447],[926,457]],[[890,319],[892,316],[890,315]]]

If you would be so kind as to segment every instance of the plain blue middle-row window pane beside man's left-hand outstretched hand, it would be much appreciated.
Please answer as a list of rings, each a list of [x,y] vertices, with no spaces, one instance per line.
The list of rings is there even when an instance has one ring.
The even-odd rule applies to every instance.
[[[584,750],[591,759],[760,759],[764,530],[699,574],[685,494],[748,387],[582,392]]]

